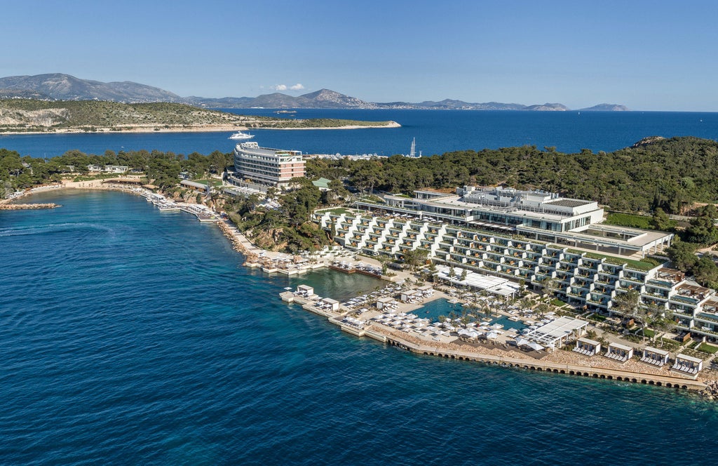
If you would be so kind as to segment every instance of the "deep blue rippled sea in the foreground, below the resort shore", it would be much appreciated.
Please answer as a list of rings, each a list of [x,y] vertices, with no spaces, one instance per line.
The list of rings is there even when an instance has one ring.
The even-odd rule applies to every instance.
[[[123,193],[0,211],[0,464],[709,464],[718,408],[412,355],[279,300],[213,225]],[[363,277],[362,277],[363,279]],[[371,280],[359,288],[371,289]]]

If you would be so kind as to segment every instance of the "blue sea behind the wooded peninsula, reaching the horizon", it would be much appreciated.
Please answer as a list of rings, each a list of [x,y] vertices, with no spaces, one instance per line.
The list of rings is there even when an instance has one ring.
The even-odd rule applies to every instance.
[[[269,109],[235,109],[241,114],[278,116]],[[718,138],[718,113],[577,112],[577,111],[442,111],[298,109],[294,118],[394,120],[393,129],[316,129],[253,131],[264,147],[314,154],[407,154],[412,138],[416,152],[442,154],[521,145],[556,147],[561,152],[586,148],[598,152],[633,145],[647,136]],[[230,152],[230,132],[149,134],[0,135],[0,147],[21,155],[52,157],[67,150],[103,154],[106,150],[161,150],[180,154],[214,150]]]

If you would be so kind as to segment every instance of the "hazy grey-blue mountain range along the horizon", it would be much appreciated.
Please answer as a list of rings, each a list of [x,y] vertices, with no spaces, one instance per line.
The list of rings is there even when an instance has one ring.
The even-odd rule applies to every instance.
[[[438,110],[528,110],[566,111],[563,104],[470,103],[459,100],[411,102],[368,102],[329,89],[289,96],[269,93],[257,97],[181,97],[163,89],[131,81],[103,83],[62,73],[0,78],[0,99],[101,100],[123,103],[174,102],[204,108],[248,109],[438,109]],[[625,111],[623,105],[598,104],[581,111]]]

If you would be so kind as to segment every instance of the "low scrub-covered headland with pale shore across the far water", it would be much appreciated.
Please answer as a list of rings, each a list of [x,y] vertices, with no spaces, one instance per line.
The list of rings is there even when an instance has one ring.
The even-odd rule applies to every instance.
[[[393,128],[396,122],[246,116],[158,102],[0,100],[0,134],[62,132],[196,132],[238,129]]]

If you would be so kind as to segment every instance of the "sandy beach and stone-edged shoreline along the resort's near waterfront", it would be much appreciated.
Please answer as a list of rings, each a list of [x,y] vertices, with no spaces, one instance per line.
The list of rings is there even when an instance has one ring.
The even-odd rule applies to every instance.
[[[122,191],[125,193],[131,193],[135,195],[144,196],[150,201],[149,195],[151,191],[147,191],[141,188],[127,188],[126,186],[118,185],[103,185],[103,180],[93,181],[81,181],[72,182],[66,181],[59,185],[42,186],[39,188],[33,188],[32,190],[25,191],[22,195],[17,196],[11,200],[3,199],[0,200],[0,204],[6,204],[9,201],[15,201],[19,198],[30,196],[33,193],[39,193],[43,191],[50,191],[55,189],[80,189],[80,190],[106,190],[106,191]],[[142,192],[140,192],[142,191]],[[145,192],[146,191],[146,192]],[[157,195],[155,195],[157,196]],[[160,206],[162,210],[162,206]],[[174,210],[180,210],[175,207]],[[181,209],[185,210],[185,209]],[[197,215],[197,212],[185,210],[189,213]],[[217,211],[213,211],[215,215],[219,215]],[[200,218],[199,215],[197,215]],[[225,237],[233,243],[234,249],[237,252],[245,255],[247,262],[244,265],[252,266],[253,261],[256,257],[267,257],[270,259],[276,259],[283,256],[279,252],[264,251],[253,245],[244,235],[236,229],[233,225],[230,225],[228,221],[222,221],[217,219],[215,221],[218,227],[223,232]],[[327,265],[327,261],[332,260],[332,257],[325,258],[319,265],[312,266],[303,270],[304,272],[310,272],[314,268],[323,268]],[[361,257],[363,262],[370,265],[380,265],[378,261],[369,259],[367,257]],[[256,265],[255,265],[256,266]],[[264,268],[263,268],[264,270]],[[264,270],[266,273],[276,273],[278,270]],[[391,281],[396,282],[401,278],[410,277],[409,273],[401,273],[397,275]],[[475,362],[482,362],[486,364],[502,365],[506,367],[519,367],[527,370],[538,370],[538,371],[549,371],[554,373],[563,373],[567,375],[579,375],[584,377],[600,378],[607,380],[623,380],[634,383],[644,383],[648,385],[664,386],[668,388],[684,388],[688,390],[699,391],[702,395],[709,399],[714,395],[716,391],[716,382],[705,375],[699,374],[697,378],[686,378],[681,375],[675,375],[668,370],[668,367],[651,367],[644,365],[638,361],[631,360],[623,365],[618,362],[607,360],[600,356],[596,356],[600,359],[591,360],[591,357],[584,355],[578,355],[574,352],[564,351],[558,349],[554,352],[548,353],[537,360],[534,357],[522,354],[521,351],[516,349],[510,349],[506,344],[493,344],[489,347],[486,345],[470,345],[457,343],[458,339],[452,339],[446,342],[429,342],[419,337],[410,334],[409,332],[399,331],[397,329],[391,329],[391,327],[383,326],[378,323],[371,323],[366,326],[362,326],[361,329],[353,326],[348,326],[343,323],[343,319],[353,314],[352,309],[340,308],[338,311],[318,311],[314,309],[314,303],[310,301],[299,301],[296,298],[289,299],[289,295],[292,293],[285,292],[280,293],[283,301],[293,302],[296,301],[302,308],[310,311],[314,314],[327,317],[332,324],[340,326],[342,331],[354,334],[357,337],[370,337],[384,342],[392,346],[406,349],[410,352],[415,352],[421,355],[429,355],[435,357],[446,357],[450,359],[458,360],[471,360]],[[287,298],[285,298],[285,296]],[[444,293],[437,293],[439,297],[448,297]],[[433,301],[429,300],[429,301]],[[426,302],[429,302],[426,301]],[[425,302],[416,306],[404,306],[400,308],[400,311],[411,311],[419,309],[424,305]],[[374,310],[373,310],[374,311]],[[500,309],[498,310],[500,312]],[[368,314],[370,315],[370,314]],[[596,358],[595,357],[595,358]]]

